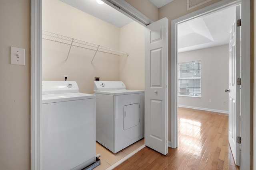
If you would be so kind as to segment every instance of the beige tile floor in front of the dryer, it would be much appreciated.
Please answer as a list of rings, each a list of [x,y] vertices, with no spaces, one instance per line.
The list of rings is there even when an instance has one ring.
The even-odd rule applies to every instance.
[[[144,145],[144,138],[114,154],[110,150],[100,145],[100,143],[96,142],[96,154],[100,154],[100,165],[94,168],[94,170],[107,169],[142,145]]]

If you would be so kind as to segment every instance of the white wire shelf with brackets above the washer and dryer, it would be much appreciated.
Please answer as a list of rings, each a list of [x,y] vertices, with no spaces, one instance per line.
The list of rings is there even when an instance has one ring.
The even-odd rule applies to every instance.
[[[64,35],[59,35],[59,34],[48,32],[48,31],[42,31],[42,39],[47,39],[47,40],[50,40],[50,41],[55,41],[55,42],[58,42],[58,43],[63,43],[63,44],[70,45],[70,48],[69,48],[69,51],[68,51],[68,56],[69,56],[69,53],[70,53],[70,50],[71,50],[72,46],[96,51],[94,53],[92,61],[94,60],[94,57],[95,57],[97,52],[108,53],[108,54],[113,54],[113,55],[127,55],[127,56],[129,55],[127,52],[124,52],[124,51],[104,47],[102,45],[96,45],[96,44],[93,44],[93,43],[88,43],[86,41],[81,41],[81,40],[78,40],[78,39],[66,37]],[[67,57],[66,61],[68,61],[68,57]]]

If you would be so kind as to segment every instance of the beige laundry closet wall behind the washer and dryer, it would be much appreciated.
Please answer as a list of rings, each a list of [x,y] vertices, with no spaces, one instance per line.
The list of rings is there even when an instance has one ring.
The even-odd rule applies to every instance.
[[[76,20],[74,20],[76,18]],[[43,1],[42,29],[90,43],[127,51],[126,55],[96,53],[42,40],[42,79],[76,81],[79,91],[93,94],[95,76],[124,81],[128,89],[144,90],[144,27],[135,21],[118,28],[59,0]]]

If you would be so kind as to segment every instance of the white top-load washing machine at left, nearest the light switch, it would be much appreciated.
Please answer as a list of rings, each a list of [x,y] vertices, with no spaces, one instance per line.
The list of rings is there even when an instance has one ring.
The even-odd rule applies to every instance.
[[[71,81],[42,81],[42,169],[81,170],[96,161],[95,95]]]

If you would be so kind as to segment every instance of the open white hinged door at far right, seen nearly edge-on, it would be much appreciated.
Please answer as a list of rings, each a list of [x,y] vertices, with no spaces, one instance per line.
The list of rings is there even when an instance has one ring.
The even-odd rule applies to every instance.
[[[228,141],[236,165],[240,165],[240,147],[236,143],[236,137],[240,135],[240,86],[237,78],[240,77],[240,27],[236,21],[240,19],[240,6],[236,7],[236,20],[232,25],[229,35],[229,118],[228,118]]]

